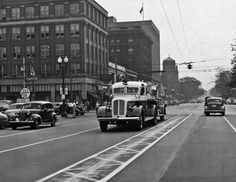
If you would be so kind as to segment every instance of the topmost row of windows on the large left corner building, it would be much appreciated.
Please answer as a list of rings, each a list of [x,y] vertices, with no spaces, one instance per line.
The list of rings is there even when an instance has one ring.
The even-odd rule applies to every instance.
[[[69,5],[69,15],[70,16],[79,16],[84,11],[83,9],[86,8],[86,15],[90,17],[93,21],[98,23],[104,28],[107,28],[107,18],[106,16],[102,15],[95,7],[88,4],[86,7],[81,7],[82,4],[78,3],[70,3]],[[64,17],[66,15],[65,12],[67,10],[65,9],[65,4],[55,4],[54,9],[51,8],[50,5],[40,5],[39,10],[36,9],[35,6],[27,6],[24,9],[20,7],[12,7],[10,9],[10,12],[7,12],[6,8],[0,9],[0,20],[6,20],[7,17],[11,17],[12,20],[20,20],[20,19],[33,19],[38,16],[41,18],[47,18],[51,16],[55,17]],[[39,15],[36,13],[39,11]]]

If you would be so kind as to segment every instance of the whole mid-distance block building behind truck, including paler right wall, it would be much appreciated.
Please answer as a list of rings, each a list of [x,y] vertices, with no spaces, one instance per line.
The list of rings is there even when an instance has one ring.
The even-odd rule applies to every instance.
[[[139,79],[160,82],[160,35],[149,21],[108,21],[110,61],[139,74]]]

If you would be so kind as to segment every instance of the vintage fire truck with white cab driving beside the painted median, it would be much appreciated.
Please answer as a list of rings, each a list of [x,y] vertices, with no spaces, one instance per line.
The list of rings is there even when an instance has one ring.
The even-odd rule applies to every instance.
[[[156,125],[157,117],[164,120],[165,109],[161,98],[152,94],[150,85],[143,81],[123,81],[112,85],[111,104],[98,108],[97,119],[103,132],[109,124],[132,124],[142,130],[147,121]]]

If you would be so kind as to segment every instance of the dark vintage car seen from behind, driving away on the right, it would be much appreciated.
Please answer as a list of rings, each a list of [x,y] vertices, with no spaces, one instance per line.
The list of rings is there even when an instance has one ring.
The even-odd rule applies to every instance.
[[[225,104],[221,97],[207,97],[205,98],[204,113],[209,116],[211,113],[220,113],[225,115]]]

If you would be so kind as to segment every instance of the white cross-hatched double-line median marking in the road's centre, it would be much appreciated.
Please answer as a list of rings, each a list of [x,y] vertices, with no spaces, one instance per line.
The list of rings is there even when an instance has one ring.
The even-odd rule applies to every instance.
[[[109,179],[111,179],[113,176],[115,176],[117,173],[119,173],[122,169],[124,169],[128,164],[130,164],[132,161],[134,161],[137,157],[139,157],[140,155],[142,155],[146,150],[148,150],[150,147],[152,147],[155,143],[157,143],[157,142],[159,142],[163,137],[165,137],[167,134],[169,134],[172,130],[174,130],[177,126],[179,126],[182,122],[184,122],[186,119],[188,119],[189,117],[190,117],[191,115],[188,115],[187,117],[185,117],[185,119],[183,119],[182,121],[180,121],[177,125],[175,125],[172,129],[170,129],[168,132],[166,132],[165,134],[162,134],[162,137],[159,137],[154,143],[152,143],[150,146],[148,146],[148,147],[145,147],[144,149],[141,149],[141,152],[139,152],[139,151],[135,151],[134,150],[134,152],[133,153],[136,153],[132,158],[130,158],[129,160],[127,160],[126,162],[123,162],[123,164],[122,165],[119,165],[120,167],[118,167],[118,168],[116,168],[115,170],[113,170],[110,174],[108,174],[107,176],[105,176],[103,179],[101,179],[100,181],[101,182],[103,182],[103,181],[107,181],[107,180],[109,180]],[[142,134],[144,134],[144,133],[147,133],[148,131],[151,131],[151,130],[153,130],[153,129],[159,129],[159,130],[162,130],[162,129],[164,129],[164,128],[166,128],[166,127],[168,127],[169,125],[173,125],[173,123],[176,123],[177,121],[178,121],[178,119],[181,119],[182,118],[182,116],[180,116],[180,115],[178,115],[178,116],[174,116],[173,118],[176,118],[176,119],[174,119],[174,121],[169,121],[168,122],[168,124],[166,124],[166,125],[164,125],[163,127],[161,127],[160,129],[158,128],[158,126],[156,126],[156,127],[152,127],[152,128],[150,128],[150,129],[148,129],[148,130],[145,130],[145,131],[143,131],[143,132],[141,132],[141,133],[139,133],[139,134],[137,134],[137,135],[135,135],[135,136],[133,136],[133,137],[130,137],[130,138],[128,138],[128,139],[126,139],[126,140],[124,140],[124,141],[122,141],[122,142],[120,142],[120,143],[118,143],[118,144],[116,144],[116,145],[113,145],[113,146],[111,146],[111,147],[109,147],[109,148],[107,148],[107,149],[105,149],[105,150],[102,150],[102,151],[100,151],[100,152],[98,152],[98,153],[96,153],[96,154],[94,154],[94,155],[92,155],[92,156],[90,156],[90,157],[87,157],[87,158],[85,158],[85,159],[83,159],[83,160],[81,160],[81,161],[79,161],[79,162],[77,162],[77,163],[74,163],[74,164],[72,164],[72,165],[70,165],[70,166],[68,166],[68,167],[66,167],[66,168],[64,168],[64,169],[61,169],[61,170],[59,170],[59,171],[57,171],[57,172],[55,172],[55,173],[53,173],[53,174],[51,174],[51,175],[48,175],[48,176],[46,176],[46,177],[44,177],[44,178],[42,178],[42,179],[40,179],[40,180],[38,180],[37,182],[43,182],[43,181],[46,181],[46,180],[50,180],[50,178],[53,178],[53,177],[55,177],[54,178],[54,180],[56,180],[57,179],[57,181],[61,181],[61,180],[63,180],[63,179],[59,179],[59,178],[57,178],[56,176],[57,175],[60,175],[60,173],[63,173],[63,172],[66,172],[66,171],[68,171],[68,170],[70,170],[70,169],[72,169],[73,167],[75,167],[75,166],[77,166],[77,165],[79,165],[79,164],[81,164],[81,163],[83,163],[83,162],[86,162],[87,160],[91,160],[91,159],[96,159],[99,155],[101,155],[102,153],[105,153],[106,151],[109,151],[110,149],[113,149],[113,148],[115,148],[115,147],[117,147],[117,146],[119,146],[119,145],[121,145],[121,144],[123,144],[123,143],[125,143],[125,142],[128,142],[129,140],[132,140],[132,139],[135,139],[136,137],[139,137],[139,136],[142,136]],[[172,119],[172,118],[171,118]],[[158,130],[158,131],[159,131]],[[119,149],[119,148],[118,148]],[[126,148],[124,148],[123,150],[126,150]],[[130,149],[127,149],[127,150],[130,150]],[[125,152],[125,151],[123,151],[123,152]],[[132,151],[131,151],[132,152]],[[114,154],[113,154],[114,155]],[[114,157],[113,157],[113,159],[114,159]],[[112,161],[114,161],[114,160],[111,160],[111,162]],[[98,163],[98,165],[100,166],[100,164]],[[96,166],[96,165],[95,165]],[[87,166],[88,167],[88,166]],[[93,166],[91,166],[92,168],[93,168]],[[93,169],[94,170],[94,169]],[[93,172],[93,171],[90,171],[90,172]],[[83,172],[82,172],[83,173]],[[69,174],[69,171],[67,172],[67,175]],[[73,177],[75,177],[75,175],[77,176],[77,177],[83,177],[83,179],[88,179],[88,176],[81,176],[81,175],[79,175],[79,174],[73,174],[73,175],[71,175],[72,176],[72,178]],[[93,179],[93,178],[90,178],[90,180],[91,179]],[[72,179],[71,179],[72,180]],[[93,181],[94,181],[95,179],[93,179]]]

